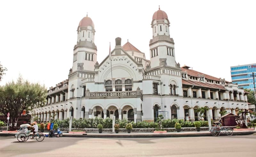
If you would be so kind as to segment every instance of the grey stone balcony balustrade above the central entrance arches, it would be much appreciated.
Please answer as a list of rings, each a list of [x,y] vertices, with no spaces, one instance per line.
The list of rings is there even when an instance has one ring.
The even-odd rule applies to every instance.
[[[109,99],[109,98],[137,98],[143,100],[142,91],[117,91],[117,92],[85,92],[85,97],[89,99]]]

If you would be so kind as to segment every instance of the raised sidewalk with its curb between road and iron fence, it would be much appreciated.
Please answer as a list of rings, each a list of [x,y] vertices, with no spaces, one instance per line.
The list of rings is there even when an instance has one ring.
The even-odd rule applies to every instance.
[[[48,134],[48,132],[44,132]],[[233,135],[250,135],[255,134],[256,130],[253,131],[233,131]],[[0,132],[0,136],[14,136],[15,133]],[[226,136],[225,134],[220,134]],[[166,133],[153,133],[153,132],[102,132],[102,133],[84,133],[74,134],[63,132],[63,137],[85,137],[85,138],[157,138],[157,137],[198,137],[198,136],[212,136],[209,131],[191,131],[191,132],[166,132]]]

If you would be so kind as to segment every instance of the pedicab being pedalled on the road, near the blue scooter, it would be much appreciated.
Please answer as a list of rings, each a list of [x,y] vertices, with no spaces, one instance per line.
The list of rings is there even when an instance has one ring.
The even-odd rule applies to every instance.
[[[15,137],[17,137],[19,142],[24,142],[32,138],[30,131],[26,131],[25,129],[26,127],[21,127],[20,130],[18,130],[18,133],[15,134]],[[36,132],[34,137],[36,137],[36,140],[39,142],[44,140],[44,134],[42,132]]]

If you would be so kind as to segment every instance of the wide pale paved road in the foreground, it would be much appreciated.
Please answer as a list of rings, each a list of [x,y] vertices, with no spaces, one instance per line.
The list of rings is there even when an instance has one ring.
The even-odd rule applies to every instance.
[[[256,135],[179,138],[45,138],[17,142],[0,137],[2,157],[24,156],[255,156]]]

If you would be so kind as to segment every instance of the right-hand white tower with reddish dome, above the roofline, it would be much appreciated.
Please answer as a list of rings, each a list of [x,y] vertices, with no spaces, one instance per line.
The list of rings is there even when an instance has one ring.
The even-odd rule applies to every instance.
[[[160,10],[153,14],[152,22],[153,39],[150,39],[151,68],[164,64],[177,67],[175,62],[174,41],[170,38],[170,22],[167,14]]]

